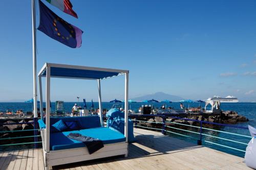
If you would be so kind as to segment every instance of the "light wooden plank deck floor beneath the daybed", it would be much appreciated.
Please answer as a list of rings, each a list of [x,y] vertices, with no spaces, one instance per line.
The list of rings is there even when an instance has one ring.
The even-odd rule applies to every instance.
[[[52,169],[251,169],[243,158],[164,136],[134,129],[137,142],[129,144],[129,156],[84,161]],[[0,169],[44,169],[41,149],[0,153]]]

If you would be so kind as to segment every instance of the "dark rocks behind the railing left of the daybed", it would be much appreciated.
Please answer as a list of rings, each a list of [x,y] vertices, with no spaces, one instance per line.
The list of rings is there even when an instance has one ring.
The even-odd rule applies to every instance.
[[[31,123],[33,119],[12,119],[12,120],[3,120],[0,119],[1,124],[14,124],[14,123]],[[0,144],[10,144],[10,143],[23,143],[33,141],[34,138],[16,138],[8,139],[12,137],[23,137],[23,136],[33,136],[34,131],[26,130],[34,129],[34,124],[16,124],[16,125],[1,125],[0,126],[0,138],[7,138],[0,140]],[[3,132],[5,131],[5,132]],[[17,131],[17,132],[13,132]],[[2,133],[1,133],[2,132]]]

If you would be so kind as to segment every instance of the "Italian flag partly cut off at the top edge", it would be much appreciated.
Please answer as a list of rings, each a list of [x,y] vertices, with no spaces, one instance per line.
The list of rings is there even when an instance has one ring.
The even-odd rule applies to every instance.
[[[73,6],[69,0],[46,0],[46,1],[51,5],[57,7],[61,11],[78,18],[75,11],[73,11],[72,9]]]

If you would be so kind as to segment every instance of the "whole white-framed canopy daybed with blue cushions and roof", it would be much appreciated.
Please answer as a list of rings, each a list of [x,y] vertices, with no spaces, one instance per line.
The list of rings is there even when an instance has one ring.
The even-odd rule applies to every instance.
[[[101,80],[124,75],[124,117],[122,123],[124,129],[116,131],[114,129],[102,127],[102,106],[101,106]],[[46,114],[45,120],[39,120],[42,137],[42,151],[44,155],[45,169],[50,166],[105,158],[110,156],[128,155],[128,87],[129,70],[98,68],[88,66],[66,65],[46,63],[38,73],[40,113],[44,117],[44,106],[42,102],[42,81],[46,77]],[[66,79],[87,79],[96,81],[98,85],[99,112],[98,116],[86,117],[50,117],[50,96],[52,78]],[[82,91],[81,91],[82,92]],[[65,93],[65,91],[63,91]],[[36,101],[36,100],[35,100]],[[36,116],[36,115],[35,115]],[[54,131],[51,130],[53,124],[59,120],[76,121],[79,128],[73,131]],[[61,122],[61,121],[60,121]],[[122,125],[123,125],[122,124]],[[53,129],[53,128],[52,128]],[[103,141],[104,147],[90,154],[82,142],[69,139],[67,135],[71,132],[80,133],[85,136],[98,138]]]

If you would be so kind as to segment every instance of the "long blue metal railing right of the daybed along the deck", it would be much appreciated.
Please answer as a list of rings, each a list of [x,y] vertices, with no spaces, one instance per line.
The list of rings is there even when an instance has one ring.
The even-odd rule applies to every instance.
[[[224,148],[228,148],[228,149],[232,149],[232,150],[236,150],[236,151],[240,151],[240,152],[245,152],[245,150],[241,150],[238,148],[233,148],[230,147],[228,145],[222,144],[222,143],[216,143],[213,141],[209,141],[209,140],[205,140],[203,139],[203,136],[207,136],[207,137],[212,137],[212,138],[216,138],[216,139],[222,139],[228,142],[234,142],[237,144],[241,144],[241,145],[247,145],[247,143],[242,142],[242,141],[237,141],[237,140],[233,140],[232,138],[224,138],[224,137],[219,137],[219,136],[214,136],[211,134],[206,134],[203,131],[207,130],[207,131],[213,131],[213,132],[218,132],[218,133],[225,133],[225,134],[229,134],[229,135],[234,135],[234,136],[239,136],[242,138],[248,138],[251,139],[251,136],[247,136],[247,135],[243,135],[243,134],[237,134],[237,133],[231,133],[231,132],[226,132],[226,131],[221,131],[221,130],[216,130],[216,129],[210,129],[210,128],[206,128],[203,126],[203,124],[208,124],[208,125],[217,125],[217,126],[221,126],[221,127],[231,127],[231,128],[237,128],[237,129],[248,129],[247,127],[241,127],[241,126],[234,126],[234,125],[228,125],[228,124],[219,124],[219,123],[213,123],[213,122],[206,122],[203,120],[196,120],[196,119],[189,119],[189,118],[182,118],[182,117],[176,117],[176,116],[172,116],[172,115],[154,115],[154,114],[132,114],[129,116],[135,116],[135,120],[134,120],[134,127],[140,127],[140,128],[145,128],[145,129],[154,129],[154,130],[159,130],[162,132],[162,134],[165,134],[166,132],[168,133],[172,133],[172,134],[176,134],[176,135],[180,135],[180,136],[184,136],[184,137],[188,137],[188,138],[193,138],[197,140],[197,144],[202,145],[202,142],[206,142],[206,143],[210,143],[210,144],[214,144],[218,147],[224,147]],[[162,122],[149,122],[149,121],[145,121],[145,120],[139,120],[139,117],[162,117]],[[193,121],[193,122],[197,122],[200,126],[194,126],[194,125],[187,125],[187,124],[182,124],[182,123],[177,123],[177,122],[170,122],[170,121],[166,121],[166,117],[168,118],[173,118],[173,119],[182,119],[185,121]],[[144,122],[144,123],[151,123],[151,124],[162,124],[162,128],[153,128],[153,127],[145,127],[145,126],[140,126],[138,125],[139,122]],[[172,127],[172,126],[167,126],[166,123],[168,124],[174,124],[174,125],[178,125],[178,127]],[[180,127],[191,127],[191,128],[196,128],[198,129],[197,131],[191,131],[191,130],[186,130],[186,129],[182,129]],[[172,130],[176,130],[176,132],[172,131]],[[191,134],[196,134],[198,135],[198,137],[194,137],[192,135],[187,135],[181,132],[177,132],[177,131],[182,131],[182,132],[187,132],[187,133],[191,133]]]

